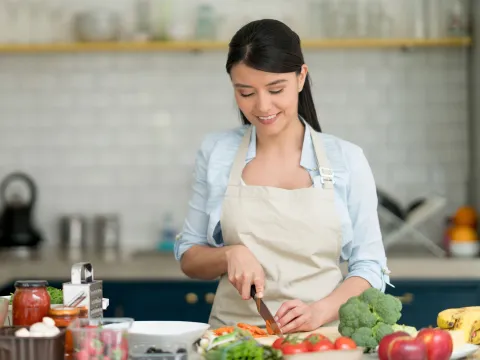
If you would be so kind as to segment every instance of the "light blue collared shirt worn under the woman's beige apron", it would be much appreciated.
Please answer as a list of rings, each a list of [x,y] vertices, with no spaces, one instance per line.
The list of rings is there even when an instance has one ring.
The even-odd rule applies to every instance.
[[[222,202],[235,155],[248,126],[212,133],[203,140],[197,152],[188,214],[175,242],[177,260],[193,245],[224,246],[219,223]],[[256,156],[255,127],[252,130],[245,163]],[[305,126],[300,165],[313,181],[319,171],[310,134],[309,127]],[[385,291],[390,272],[378,219],[375,180],[363,150],[333,135],[316,132],[312,135],[323,140],[334,172],[335,207],[343,234],[339,260],[348,261],[346,278],[359,276],[372,287]],[[320,238],[319,234],[319,241]]]

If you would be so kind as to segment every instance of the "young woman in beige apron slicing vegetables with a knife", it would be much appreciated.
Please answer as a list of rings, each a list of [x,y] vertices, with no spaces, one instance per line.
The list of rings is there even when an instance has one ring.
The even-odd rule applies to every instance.
[[[226,69],[244,125],[203,141],[176,258],[189,277],[220,277],[213,328],[265,326],[252,284],[284,333],[333,325],[348,298],[389,281],[369,164],[321,132],[300,39],[285,24],[242,27]]]

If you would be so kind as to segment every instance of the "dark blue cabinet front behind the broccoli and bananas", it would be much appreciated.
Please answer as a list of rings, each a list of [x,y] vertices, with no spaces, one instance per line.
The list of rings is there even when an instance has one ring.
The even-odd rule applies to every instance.
[[[478,281],[394,281],[395,288],[388,287],[387,293],[402,300],[400,324],[417,329],[437,326],[440,311],[464,306],[480,305],[480,282]]]

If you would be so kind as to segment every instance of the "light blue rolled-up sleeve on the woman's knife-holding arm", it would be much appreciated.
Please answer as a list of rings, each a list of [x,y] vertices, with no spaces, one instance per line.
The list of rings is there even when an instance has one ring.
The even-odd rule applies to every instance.
[[[194,245],[208,245],[207,228],[207,170],[210,153],[215,142],[208,136],[202,142],[195,159],[192,195],[188,203],[188,212],[182,232],[175,241],[175,258],[180,261],[182,255]]]

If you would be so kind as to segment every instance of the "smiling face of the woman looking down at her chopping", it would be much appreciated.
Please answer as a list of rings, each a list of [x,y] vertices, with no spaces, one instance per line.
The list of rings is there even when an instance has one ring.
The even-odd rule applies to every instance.
[[[270,135],[298,120],[298,93],[306,75],[306,65],[298,75],[268,73],[243,63],[230,72],[238,107],[258,132]]]

